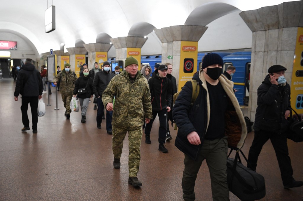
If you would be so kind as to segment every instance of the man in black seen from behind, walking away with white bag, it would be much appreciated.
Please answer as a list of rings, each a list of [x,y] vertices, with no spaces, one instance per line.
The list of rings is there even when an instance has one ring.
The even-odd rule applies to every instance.
[[[15,101],[18,101],[19,94],[22,95],[22,123],[24,127],[21,131],[30,130],[29,120],[27,116],[28,103],[31,106],[32,111],[32,122],[33,122],[33,133],[37,133],[38,124],[38,99],[42,98],[43,85],[40,72],[35,69],[32,63],[32,59],[26,59],[25,65],[18,73],[15,88]]]

